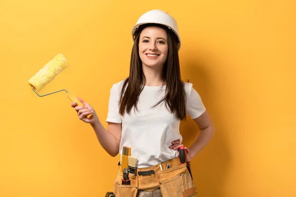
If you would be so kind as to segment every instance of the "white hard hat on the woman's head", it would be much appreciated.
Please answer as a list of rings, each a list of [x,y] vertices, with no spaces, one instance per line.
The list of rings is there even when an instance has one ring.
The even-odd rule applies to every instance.
[[[159,10],[159,9],[153,9],[145,14],[143,14],[137,21],[136,25],[132,29],[132,37],[133,41],[135,41],[135,32],[138,30],[140,25],[143,24],[149,24],[149,23],[156,23],[160,25],[164,25],[168,27],[170,30],[172,30],[178,37],[179,45],[178,45],[178,51],[181,48],[181,39],[179,34],[179,27],[177,24],[177,21],[169,15],[169,13]]]

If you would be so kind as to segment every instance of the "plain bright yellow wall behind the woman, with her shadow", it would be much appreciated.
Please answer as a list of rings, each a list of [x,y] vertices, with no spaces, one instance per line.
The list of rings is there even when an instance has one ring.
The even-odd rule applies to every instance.
[[[40,94],[66,89],[104,123],[128,75],[131,29],[150,9],[178,21],[183,79],[216,126],[192,161],[200,197],[296,196],[296,3],[293,0],[1,0],[0,196],[103,197],[119,156],[100,146],[65,92],[27,81],[62,53],[70,66]],[[185,145],[198,132],[181,124]],[[149,147],[147,147],[149,148]]]

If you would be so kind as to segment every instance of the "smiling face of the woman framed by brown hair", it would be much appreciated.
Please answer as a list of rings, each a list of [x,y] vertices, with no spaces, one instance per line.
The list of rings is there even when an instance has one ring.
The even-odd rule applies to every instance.
[[[139,55],[142,66],[163,67],[168,55],[168,39],[164,29],[147,27],[139,39]]]

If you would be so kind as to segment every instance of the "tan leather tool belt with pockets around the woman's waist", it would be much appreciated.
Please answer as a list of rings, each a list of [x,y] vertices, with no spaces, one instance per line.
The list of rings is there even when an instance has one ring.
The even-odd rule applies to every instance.
[[[160,167],[160,164],[162,166]],[[181,164],[180,158],[174,158],[150,167],[137,168],[136,174],[129,173],[130,185],[122,185],[123,173],[118,173],[114,181],[115,197],[136,197],[138,190],[161,190],[163,197],[193,197],[197,195],[193,183],[190,162]],[[166,169],[169,164],[170,168]]]

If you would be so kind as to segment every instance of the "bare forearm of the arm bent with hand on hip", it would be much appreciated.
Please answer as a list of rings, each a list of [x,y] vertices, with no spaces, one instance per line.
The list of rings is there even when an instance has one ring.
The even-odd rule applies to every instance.
[[[200,131],[199,135],[196,136],[192,145],[189,148],[189,153],[188,153],[189,161],[210,142],[214,133],[215,133],[214,127],[207,127]]]

